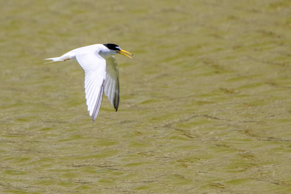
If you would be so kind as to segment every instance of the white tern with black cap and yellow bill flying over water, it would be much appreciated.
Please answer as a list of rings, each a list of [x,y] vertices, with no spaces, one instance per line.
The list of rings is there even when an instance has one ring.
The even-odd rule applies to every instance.
[[[132,55],[120,49],[116,44],[96,44],[74,49],[60,57],[45,60],[55,62],[76,59],[78,61],[85,71],[85,97],[89,114],[94,122],[101,106],[103,90],[115,110],[118,109],[119,71],[116,58],[113,55],[128,56],[125,53]]]

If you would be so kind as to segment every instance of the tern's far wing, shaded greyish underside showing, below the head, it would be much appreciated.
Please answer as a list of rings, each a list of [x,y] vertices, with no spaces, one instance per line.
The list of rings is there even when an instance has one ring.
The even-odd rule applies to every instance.
[[[106,59],[106,79],[104,91],[105,95],[117,111],[119,106],[119,71],[116,58],[114,56]]]

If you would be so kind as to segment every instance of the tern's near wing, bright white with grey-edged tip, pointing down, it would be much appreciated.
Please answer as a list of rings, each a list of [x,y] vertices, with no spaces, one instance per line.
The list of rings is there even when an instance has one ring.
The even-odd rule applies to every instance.
[[[93,51],[77,54],[76,59],[85,71],[85,93],[88,111],[95,121],[99,112],[106,78],[106,60]]]

